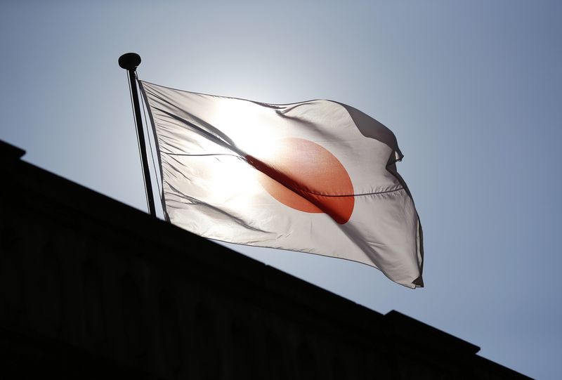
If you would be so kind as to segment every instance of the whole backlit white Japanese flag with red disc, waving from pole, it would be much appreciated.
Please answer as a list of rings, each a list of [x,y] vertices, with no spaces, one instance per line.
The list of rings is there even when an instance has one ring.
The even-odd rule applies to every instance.
[[[384,125],[331,100],[276,105],[140,84],[171,223],[423,286],[421,225]]]

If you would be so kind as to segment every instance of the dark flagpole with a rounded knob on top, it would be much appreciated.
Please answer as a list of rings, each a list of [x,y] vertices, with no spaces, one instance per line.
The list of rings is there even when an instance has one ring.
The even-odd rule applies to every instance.
[[[148,197],[148,212],[156,217],[156,207],[154,194],[152,192],[152,182],[150,181],[150,169],[148,157],[146,156],[145,133],[143,131],[143,119],[141,117],[141,105],[138,103],[138,91],[136,87],[136,67],[141,64],[141,56],[137,53],[125,53],[119,57],[119,67],[127,70],[129,83],[131,84],[131,98],[133,98],[133,109],[138,135],[138,145],[141,150],[141,161],[143,162],[143,176],[145,178],[146,195]]]

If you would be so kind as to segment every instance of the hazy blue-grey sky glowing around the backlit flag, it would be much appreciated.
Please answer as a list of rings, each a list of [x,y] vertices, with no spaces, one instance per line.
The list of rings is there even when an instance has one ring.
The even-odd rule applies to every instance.
[[[164,86],[353,105],[405,154],[426,287],[334,258],[236,249],[561,379],[561,17],[560,1],[4,0],[0,138],[145,209],[122,53],[141,54],[139,77]]]

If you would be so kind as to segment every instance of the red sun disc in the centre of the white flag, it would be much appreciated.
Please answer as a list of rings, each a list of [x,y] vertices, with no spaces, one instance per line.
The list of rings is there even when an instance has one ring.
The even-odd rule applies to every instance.
[[[325,213],[339,224],[351,217],[355,199],[344,165],[329,150],[303,138],[284,138],[259,159],[259,182],[282,204],[308,213]]]

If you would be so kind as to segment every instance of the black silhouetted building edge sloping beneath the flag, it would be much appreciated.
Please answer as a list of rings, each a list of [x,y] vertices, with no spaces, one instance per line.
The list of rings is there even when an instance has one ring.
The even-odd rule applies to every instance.
[[[0,142],[3,379],[527,379],[23,154]]]

